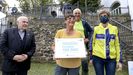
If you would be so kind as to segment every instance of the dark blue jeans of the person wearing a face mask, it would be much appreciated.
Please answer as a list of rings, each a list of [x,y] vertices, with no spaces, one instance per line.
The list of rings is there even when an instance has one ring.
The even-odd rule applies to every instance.
[[[93,65],[96,75],[104,75],[104,68],[106,75],[115,75],[116,59],[102,59],[100,57],[93,56]]]

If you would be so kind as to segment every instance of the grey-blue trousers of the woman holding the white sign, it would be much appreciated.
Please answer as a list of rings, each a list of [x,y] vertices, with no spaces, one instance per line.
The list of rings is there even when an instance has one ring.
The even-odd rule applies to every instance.
[[[55,75],[79,75],[79,67],[78,68],[64,68],[59,65],[55,68]]]

